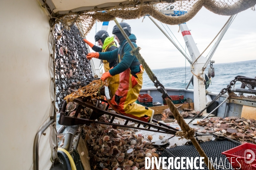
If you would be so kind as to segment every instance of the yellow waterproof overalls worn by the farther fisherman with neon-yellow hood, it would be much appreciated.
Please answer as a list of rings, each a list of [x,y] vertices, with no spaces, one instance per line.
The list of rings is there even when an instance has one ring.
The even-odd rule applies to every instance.
[[[102,49],[102,52],[108,51],[108,48],[111,47],[115,42],[111,42],[105,49]],[[109,68],[109,62],[107,60],[103,60],[104,70],[105,72],[108,72],[110,70]],[[108,89],[110,91],[110,97],[112,98],[116,90],[119,86],[119,74],[116,74],[112,77],[108,77]]]

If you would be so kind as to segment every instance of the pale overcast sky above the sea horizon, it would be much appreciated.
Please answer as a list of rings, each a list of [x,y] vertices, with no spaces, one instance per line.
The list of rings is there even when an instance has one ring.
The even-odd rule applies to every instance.
[[[191,30],[192,37],[195,43],[197,43],[200,52],[204,51],[209,45],[228,18],[229,16],[214,14],[203,7],[194,18],[186,23]],[[158,69],[185,66],[185,58],[183,55],[180,54],[157,26],[155,26],[148,17],[145,17],[143,22],[142,20],[143,17],[136,20],[125,20],[125,22],[131,25],[132,34],[135,34],[137,37],[137,45],[141,47],[140,54],[148,63],[149,67],[151,69]],[[118,19],[118,21],[121,21],[121,19]],[[175,39],[176,37],[185,49],[182,34],[178,32],[179,26],[168,25],[175,35],[174,37],[166,24],[162,26],[159,21],[155,21],[162,28],[164,26],[172,38]],[[108,33],[111,36],[114,25],[114,21],[111,21],[108,26]],[[87,35],[87,40],[92,43],[94,43],[96,26],[97,31],[99,31],[102,27],[102,23],[94,25]],[[217,38],[215,41],[216,40]],[[210,45],[208,50],[204,52],[204,57],[207,56],[215,41]],[[91,48],[90,52],[93,52]],[[188,51],[187,53],[189,54]],[[212,60],[215,60],[215,63],[226,63],[253,59],[256,59],[256,11],[247,9],[237,14],[235,20],[221,40]],[[189,62],[186,62],[186,66],[189,66]]]

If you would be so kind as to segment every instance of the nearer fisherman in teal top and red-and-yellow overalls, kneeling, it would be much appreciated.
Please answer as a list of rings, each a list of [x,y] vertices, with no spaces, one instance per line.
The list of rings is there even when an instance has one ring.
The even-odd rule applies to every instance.
[[[120,23],[123,30],[132,41],[133,45],[137,47],[134,34],[131,34],[131,26],[127,23]],[[111,99],[111,103],[118,109],[120,113],[125,116],[139,119],[144,122],[151,122],[154,110],[147,108],[143,105],[135,103],[137,100],[140,89],[143,84],[143,71],[144,68],[140,65],[139,60],[136,56],[131,55],[132,48],[125,40],[121,31],[117,26],[113,27],[112,34],[116,35],[116,40],[119,43],[119,48],[110,52],[104,53],[89,53],[87,59],[93,57],[98,59],[118,59],[116,67],[105,72],[101,79],[105,81],[109,77],[113,77],[119,74],[119,87]]]

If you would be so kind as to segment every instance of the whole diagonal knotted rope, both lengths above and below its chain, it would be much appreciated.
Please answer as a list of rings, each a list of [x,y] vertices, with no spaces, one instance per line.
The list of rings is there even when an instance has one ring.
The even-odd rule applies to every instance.
[[[116,26],[118,26],[118,28],[122,32],[123,36],[125,37],[125,39],[129,43],[131,48],[133,49],[131,51],[131,54],[135,55],[137,57],[137,59],[140,61],[140,63],[143,65],[143,67],[145,68],[145,71],[148,74],[148,77],[152,81],[155,81],[154,73],[151,71],[151,69],[149,68],[149,66],[147,65],[147,63],[143,59],[143,57],[140,55],[140,52],[139,52],[140,51],[140,47],[135,48],[134,45],[132,44],[131,40],[125,34],[125,31],[122,29],[122,27],[118,23],[118,21],[116,19],[114,19],[114,21],[116,23]],[[192,144],[195,146],[195,149],[200,154],[200,156],[204,157],[204,162],[208,166],[209,170],[215,170],[215,168],[212,166],[211,162],[209,161],[207,155],[204,153],[204,150],[201,148],[201,146],[198,144],[197,140],[195,139],[195,137],[194,137],[195,130],[193,128],[189,127],[188,124],[186,124],[186,122],[184,121],[183,117],[180,115],[180,112],[177,110],[177,108],[173,104],[172,100],[167,98],[166,99],[166,103],[169,106],[170,111],[173,113],[175,119],[177,119],[177,123],[178,123],[178,125],[180,125],[180,128],[182,130],[182,131],[177,131],[176,132],[176,136],[179,136],[180,139],[184,139],[184,138],[185,139],[190,139]]]

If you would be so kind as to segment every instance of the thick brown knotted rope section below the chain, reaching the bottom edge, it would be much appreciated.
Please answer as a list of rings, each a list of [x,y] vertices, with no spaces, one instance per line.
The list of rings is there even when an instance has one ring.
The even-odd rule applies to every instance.
[[[190,139],[192,144],[195,146],[195,149],[198,151],[201,157],[204,157],[204,163],[208,166],[209,170],[215,170],[212,166],[212,163],[209,161],[207,155],[204,153],[204,150],[198,144],[197,140],[194,137],[195,130],[189,127],[188,124],[184,121],[183,117],[180,115],[180,112],[177,110],[175,105],[170,99],[166,99],[166,103],[170,108],[170,111],[173,113],[177,123],[180,125],[182,131],[177,131],[176,136],[179,136],[180,139]]]

